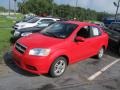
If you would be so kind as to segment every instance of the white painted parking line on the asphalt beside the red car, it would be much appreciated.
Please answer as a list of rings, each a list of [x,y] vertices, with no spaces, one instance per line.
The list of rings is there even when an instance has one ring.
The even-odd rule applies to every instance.
[[[107,66],[105,66],[101,70],[99,70],[98,72],[96,72],[93,75],[91,75],[90,77],[88,77],[88,80],[89,81],[94,80],[95,78],[97,78],[99,75],[101,75],[103,72],[105,72],[107,69],[109,69],[110,67],[112,67],[114,64],[116,64],[119,61],[120,61],[120,59],[117,59],[117,60],[111,62],[110,64],[108,64]]]

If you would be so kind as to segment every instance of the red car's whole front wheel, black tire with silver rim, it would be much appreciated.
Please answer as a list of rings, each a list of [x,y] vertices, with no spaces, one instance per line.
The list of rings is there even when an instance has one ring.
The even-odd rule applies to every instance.
[[[59,77],[65,72],[66,67],[67,67],[66,58],[58,57],[51,65],[49,75],[51,77]]]

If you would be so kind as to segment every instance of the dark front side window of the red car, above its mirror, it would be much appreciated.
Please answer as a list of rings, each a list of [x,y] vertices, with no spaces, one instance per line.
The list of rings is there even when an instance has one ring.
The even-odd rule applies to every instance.
[[[85,26],[85,27],[81,28],[78,31],[77,36],[84,37],[84,38],[90,38],[90,27]]]

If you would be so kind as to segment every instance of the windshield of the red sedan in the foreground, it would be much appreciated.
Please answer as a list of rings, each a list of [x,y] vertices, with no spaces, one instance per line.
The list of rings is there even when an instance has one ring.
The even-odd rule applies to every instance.
[[[56,38],[67,38],[77,26],[76,24],[58,22],[45,28],[40,33]]]

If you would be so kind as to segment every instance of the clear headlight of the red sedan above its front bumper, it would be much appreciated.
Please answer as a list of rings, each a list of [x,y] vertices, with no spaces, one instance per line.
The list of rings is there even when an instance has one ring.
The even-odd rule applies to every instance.
[[[50,49],[34,48],[29,51],[29,55],[35,56],[48,56],[50,54]]]

